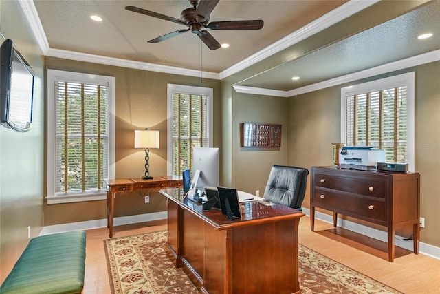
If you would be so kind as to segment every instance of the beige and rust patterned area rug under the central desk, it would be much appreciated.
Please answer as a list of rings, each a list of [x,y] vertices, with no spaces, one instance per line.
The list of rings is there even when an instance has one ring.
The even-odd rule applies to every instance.
[[[104,240],[112,293],[199,293],[174,266],[165,242],[166,231]],[[299,263],[302,294],[400,293],[302,245]]]

